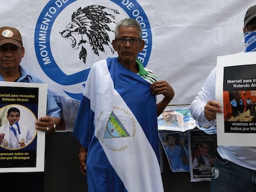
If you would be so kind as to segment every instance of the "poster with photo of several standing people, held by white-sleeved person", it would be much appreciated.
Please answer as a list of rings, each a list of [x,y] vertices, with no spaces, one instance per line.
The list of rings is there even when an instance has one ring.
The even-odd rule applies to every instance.
[[[218,145],[256,146],[256,53],[217,59],[216,100],[223,113],[216,115]]]

